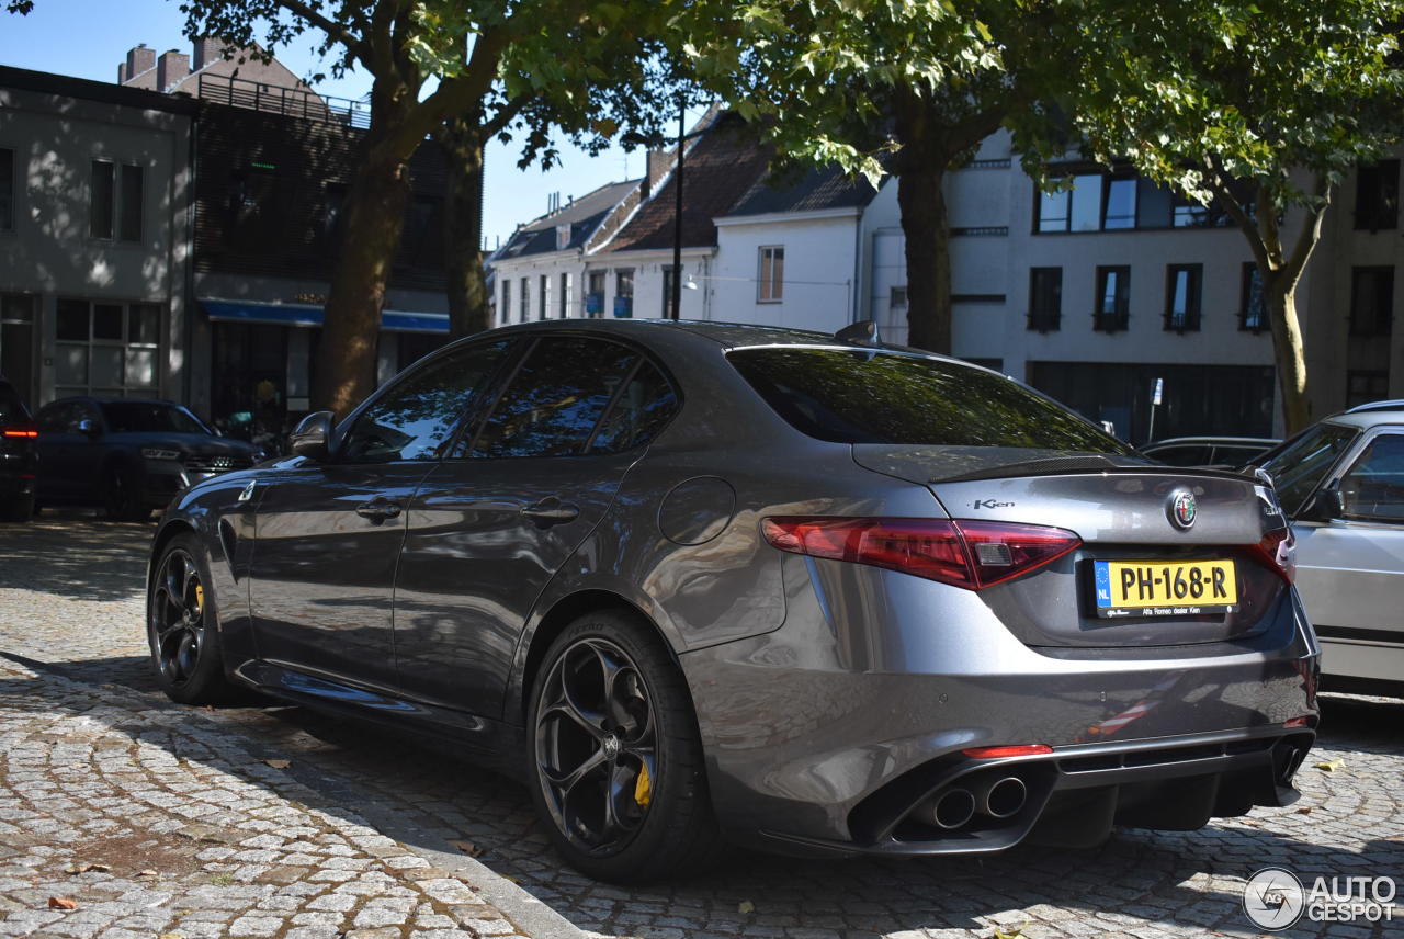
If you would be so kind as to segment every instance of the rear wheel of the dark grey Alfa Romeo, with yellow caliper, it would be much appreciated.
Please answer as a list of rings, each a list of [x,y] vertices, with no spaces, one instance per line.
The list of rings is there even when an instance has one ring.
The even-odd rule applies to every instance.
[[[717,856],[692,700],[653,630],[612,611],[581,616],[550,644],[529,700],[532,801],[573,867],[643,883]]]

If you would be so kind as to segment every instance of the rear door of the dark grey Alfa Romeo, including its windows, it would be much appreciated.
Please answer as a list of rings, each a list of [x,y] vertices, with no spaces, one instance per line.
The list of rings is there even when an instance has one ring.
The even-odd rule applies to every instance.
[[[675,403],[663,372],[616,342],[546,337],[525,354],[472,439],[410,505],[395,643],[416,698],[501,714],[536,597]]]

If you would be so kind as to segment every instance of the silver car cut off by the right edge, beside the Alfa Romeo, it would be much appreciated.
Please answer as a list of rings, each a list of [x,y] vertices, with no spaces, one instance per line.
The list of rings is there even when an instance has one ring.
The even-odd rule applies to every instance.
[[[1323,686],[1404,696],[1404,401],[1328,417],[1258,466],[1296,532]]]

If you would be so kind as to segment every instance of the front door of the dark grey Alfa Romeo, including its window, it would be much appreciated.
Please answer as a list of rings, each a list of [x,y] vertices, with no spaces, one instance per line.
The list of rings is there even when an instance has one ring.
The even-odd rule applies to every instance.
[[[258,655],[393,688],[406,508],[505,342],[431,357],[348,418],[333,455],[258,476],[250,604]]]

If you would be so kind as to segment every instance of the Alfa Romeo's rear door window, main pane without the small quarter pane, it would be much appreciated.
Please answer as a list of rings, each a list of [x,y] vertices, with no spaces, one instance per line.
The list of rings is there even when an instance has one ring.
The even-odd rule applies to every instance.
[[[476,458],[574,456],[639,357],[581,337],[539,341],[473,444]]]

